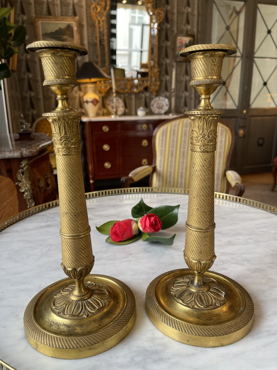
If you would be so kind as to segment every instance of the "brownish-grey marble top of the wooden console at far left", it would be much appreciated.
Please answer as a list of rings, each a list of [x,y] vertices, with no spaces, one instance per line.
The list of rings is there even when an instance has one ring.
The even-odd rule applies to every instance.
[[[19,135],[14,134],[10,145],[7,145],[6,141],[2,142],[0,138],[0,159],[33,157],[41,149],[47,148],[52,144],[52,139],[48,134],[34,132],[32,137],[33,139],[17,140]]]

